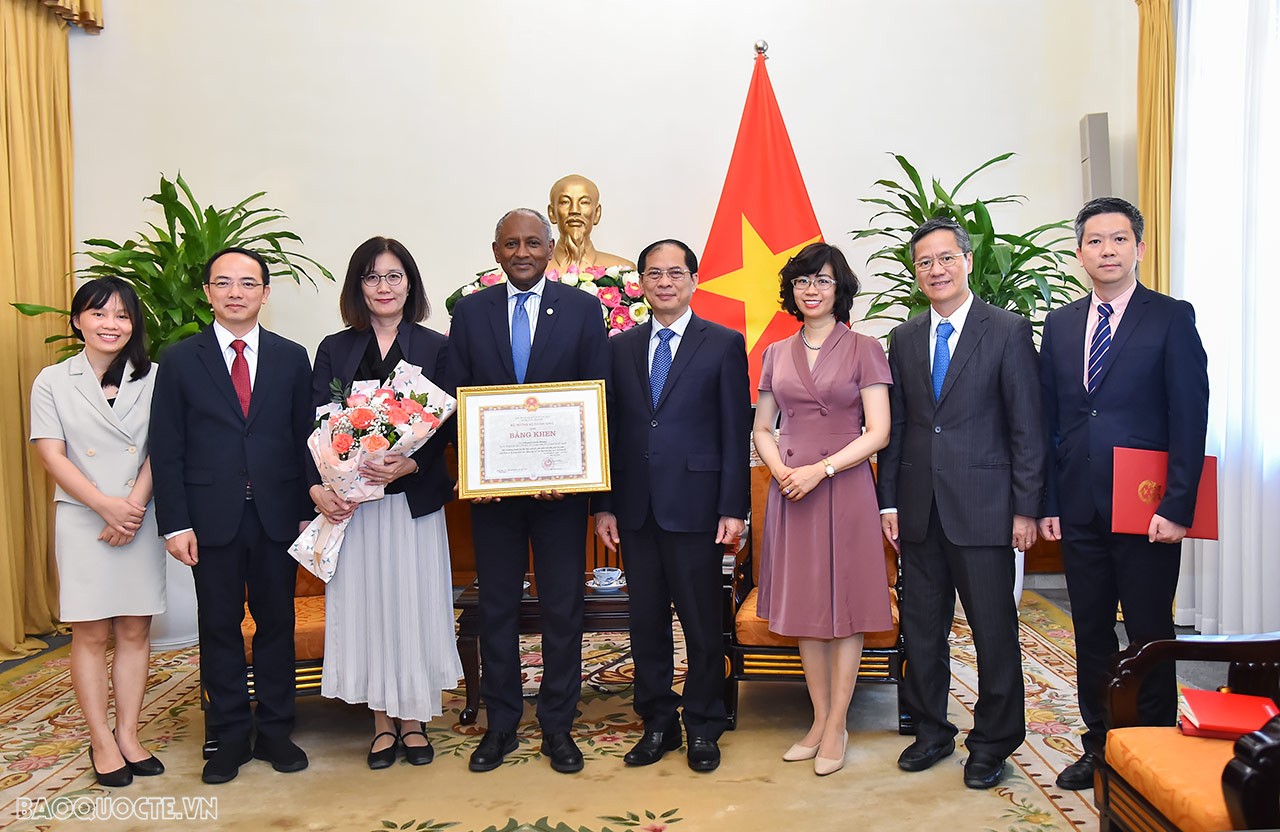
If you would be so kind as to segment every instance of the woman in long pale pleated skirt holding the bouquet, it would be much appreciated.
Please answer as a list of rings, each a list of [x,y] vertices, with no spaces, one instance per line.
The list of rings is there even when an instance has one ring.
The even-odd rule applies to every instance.
[[[396,239],[372,237],[356,248],[339,301],[347,329],[316,349],[316,406],[353,380],[384,381],[401,361],[444,387],[445,338],[420,324],[430,314],[422,276]],[[398,750],[413,765],[435,755],[426,723],[443,712],[442,692],[462,664],[453,635],[453,593],[444,504],[453,481],[444,467],[448,430],[413,456],[366,462],[366,483],[387,497],[353,504],[320,484],[311,499],[333,522],[351,517],[337,572],[325,588],[325,657],[320,694],[367,704],[374,714],[369,768],[388,768]]]

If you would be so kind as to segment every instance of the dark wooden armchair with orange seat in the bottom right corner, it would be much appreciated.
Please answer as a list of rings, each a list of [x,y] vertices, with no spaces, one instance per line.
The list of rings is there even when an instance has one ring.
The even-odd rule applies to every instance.
[[[1094,800],[1102,832],[1280,827],[1280,717],[1234,744],[1140,726],[1138,691],[1161,662],[1229,663],[1228,687],[1280,701],[1280,632],[1184,636],[1116,655],[1107,681],[1106,760]]]

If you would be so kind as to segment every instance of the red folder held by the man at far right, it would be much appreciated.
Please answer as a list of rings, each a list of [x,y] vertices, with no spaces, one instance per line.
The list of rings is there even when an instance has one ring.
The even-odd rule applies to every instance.
[[[1116,448],[1111,531],[1146,535],[1167,483],[1167,452]],[[1204,457],[1199,490],[1196,492],[1196,520],[1187,536],[1217,540],[1217,457]]]

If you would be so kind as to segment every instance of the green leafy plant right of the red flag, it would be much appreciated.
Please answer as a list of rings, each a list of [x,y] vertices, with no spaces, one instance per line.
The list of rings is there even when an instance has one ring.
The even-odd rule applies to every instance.
[[[905,321],[928,308],[929,301],[915,283],[909,241],[911,233],[927,220],[947,216],[957,221],[973,242],[973,271],[969,288],[992,306],[1007,308],[1032,320],[1039,326],[1044,314],[1078,297],[1084,285],[1064,266],[1075,257],[1075,237],[1069,220],[1048,223],[1025,234],[998,233],[991,221],[991,205],[1025,202],[1021,195],[961,201],[957,195],[975,174],[991,165],[1005,161],[1014,154],[1001,154],[970,170],[954,188],[946,188],[937,179],[927,191],[916,169],[906,157],[893,154],[909,186],[890,179],[876,184],[884,196],[867,197],[863,202],[879,205],[882,210],[870,218],[879,225],[851,232],[854,239],[878,238],[882,247],[870,261],[881,264],[876,276],[888,282],[888,288],[870,298],[868,319]],[[1064,243],[1068,243],[1064,247]]]

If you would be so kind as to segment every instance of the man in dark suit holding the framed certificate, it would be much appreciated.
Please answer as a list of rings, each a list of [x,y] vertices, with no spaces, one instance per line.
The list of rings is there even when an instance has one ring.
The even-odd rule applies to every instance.
[[[550,223],[517,209],[498,223],[494,259],[507,283],[453,307],[448,383],[453,388],[609,379],[600,302],[547,280]],[[585,494],[475,499],[471,534],[480,581],[480,695],[489,730],[471,754],[488,772],[516,750],[524,710],[520,672],[521,581],[534,549],[543,620],[543,682],[538,695],[541,753],[558,772],[582,769],[570,730],[582,687],[582,577],[586,572]]]

